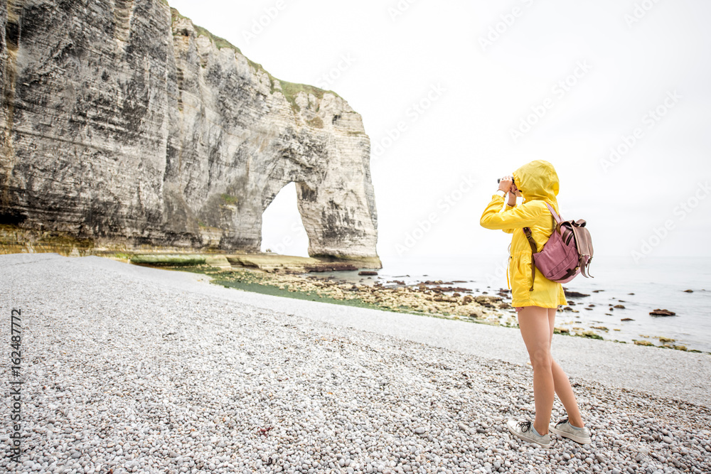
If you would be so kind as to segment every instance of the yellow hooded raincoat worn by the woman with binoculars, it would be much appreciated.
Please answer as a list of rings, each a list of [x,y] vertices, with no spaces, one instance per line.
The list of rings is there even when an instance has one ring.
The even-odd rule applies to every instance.
[[[511,237],[510,257],[506,279],[511,289],[511,306],[540,306],[557,308],[565,305],[565,293],[560,283],[545,278],[535,269],[533,291],[531,287],[531,247],[523,233],[523,227],[530,227],[533,239],[543,249],[548,237],[555,229],[555,220],[545,203],[558,212],[558,175],[547,161],[531,161],[513,172],[513,181],[523,195],[523,204],[501,210],[504,198],[495,194],[486,206],[479,223],[486,229],[503,230]],[[560,212],[558,212],[560,215]]]

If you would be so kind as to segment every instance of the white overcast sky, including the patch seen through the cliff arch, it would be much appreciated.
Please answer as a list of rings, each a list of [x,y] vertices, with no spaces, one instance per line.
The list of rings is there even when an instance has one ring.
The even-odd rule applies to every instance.
[[[479,217],[496,178],[535,159],[596,256],[711,256],[711,2],[169,3],[363,116],[384,262],[505,254]],[[302,229],[292,183],[263,248],[305,256]]]

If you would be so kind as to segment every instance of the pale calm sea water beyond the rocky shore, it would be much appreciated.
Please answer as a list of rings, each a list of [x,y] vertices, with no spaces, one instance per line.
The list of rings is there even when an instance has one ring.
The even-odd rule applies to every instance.
[[[507,288],[507,261],[505,254],[381,257],[383,268],[378,270],[378,276],[365,280],[352,272],[346,279],[381,281],[385,286],[389,286],[386,281],[395,279],[405,284],[459,280],[453,286],[471,289],[474,294],[486,291],[495,295],[499,289]],[[579,275],[563,285],[569,291],[589,296],[568,298],[576,303],[571,308],[579,312],[558,311],[557,327],[591,330],[602,326],[607,330],[594,333],[608,340],[648,340],[661,345],[659,338],[663,337],[689,350],[711,352],[711,258],[646,257],[636,263],[631,257],[594,257],[590,272],[594,278]],[[346,273],[334,276],[340,279]],[[615,305],[624,309],[612,308]],[[649,313],[656,308],[673,311],[676,316],[651,316]],[[632,321],[621,321],[626,318]]]

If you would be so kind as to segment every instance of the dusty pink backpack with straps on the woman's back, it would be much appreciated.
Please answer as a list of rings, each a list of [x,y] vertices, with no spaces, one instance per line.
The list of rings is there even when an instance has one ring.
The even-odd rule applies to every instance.
[[[567,283],[579,273],[588,278],[589,270],[586,273],[586,269],[592,262],[592,238],[585,228],[585,221],[561,220],[550,204],[545,203],[545,205],[555,219],[556,225],[540,252],[536,252],[537,247],[530,227],[523,227],[533,254],[530,291],[533,291],[533,279],[535,279],[534,264],[535,268],[538,268],[550,281]]]

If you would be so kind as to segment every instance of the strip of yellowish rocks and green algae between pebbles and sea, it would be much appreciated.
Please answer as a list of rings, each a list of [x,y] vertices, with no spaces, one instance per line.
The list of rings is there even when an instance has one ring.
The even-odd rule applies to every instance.
[[[215,284],[245,291],[518,328],[515,310],[510,305],[511,294],[508,289],[476,292],[462,286],[467,282],[461,280],[424,280],[408,284],[399,279],[383,279],[378,276],[377,271],[368,270],[358,271],[358,277],[355,277],[355,271],[363,268],[362,265],[321,262],[309,267],[301,262],[289,261],[284,256],[270,257],[268,254],[239,260],[228,257],[228,260],[231,264],[219,268],[213,266],[214,264],[193,266],[161,264],[159,266],[165,269],[200,272],[210,276]],[[148,265],[156,266],[155,262]],[[353,268],[350,268],[351,266]],[[322,273],[326,271],[331,274],[323,276]],[[336,274],[333,274],[334,272]],[[582,309],[589,309],[588,306],[595,306],[584,306],[576,302],[577,298],[589,295],[568,290],[565,294],[568,304],[559,308],[555,333],[626,343],[624,340],[609,336],[619,329],[609,330],[602,324],[584,327],[576,319],[576,313],[580,313]],[[617,304],[614,308],[619,310],[624,309],[624,306]],[[676,343],[673,338],[664,336],[653,338],[651,335],[638,337],[640,339],[634,339],[631,343],[654,348],[701,352],[688,349],[685,345]],[[658,340],[658,345],[651,342],[652,339]]]

